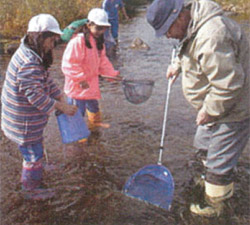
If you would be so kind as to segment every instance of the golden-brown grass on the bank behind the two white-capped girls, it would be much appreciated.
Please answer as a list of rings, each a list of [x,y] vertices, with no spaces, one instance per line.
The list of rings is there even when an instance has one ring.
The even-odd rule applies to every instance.
[[[134,6],[147,0],[124,0],[129,13]],[[101,7],[102,0],[0,0],[0,37],[22,36],[30,18],[39,13],[54,15],[64,28],[70,22],[84,18],[94,7]]]

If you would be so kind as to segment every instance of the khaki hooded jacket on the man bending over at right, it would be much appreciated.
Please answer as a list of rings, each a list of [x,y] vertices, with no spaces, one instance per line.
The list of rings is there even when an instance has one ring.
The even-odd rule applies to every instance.
[[[241,27],[210,0],[194,0],[179,49],[184,96],[215,122],[249,118],[249,42]]]

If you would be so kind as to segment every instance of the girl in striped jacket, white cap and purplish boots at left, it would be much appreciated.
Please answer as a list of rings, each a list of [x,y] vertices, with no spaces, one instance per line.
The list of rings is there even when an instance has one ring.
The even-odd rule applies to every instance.
[[[30,20],[27,35],[10,60],[1,96],[1,128],[18,144],[23,156],[22,188],[26,197],[34,200],[54,195],[40,188],[43,130],[49,114],[58,109],[74,115],[77,110],[66,103],[48,72],[52,49],[61,34],[58,22],[49,14]]]

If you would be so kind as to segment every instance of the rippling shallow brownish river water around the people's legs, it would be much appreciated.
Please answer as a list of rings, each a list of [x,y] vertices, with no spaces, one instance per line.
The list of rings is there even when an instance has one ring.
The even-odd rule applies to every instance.
[[[145,41],[150,50],[130,49],[136,37]],[[133,105],[125,99],[119,82],[101,81],[100,106],[104,121],[111,126],[94,132],[85,145],[63,145],[56,118],[50,117],[44,133],[48,164],[44,183],[55,189],[56,196],[48,201],[31,202],[22,198],[22,158],[16,145],[1,133],[0,224],[249,224],[249,145],[240,158],[236,193],[224,215],[203,219],[189,213],[190,202],[200,197],[200,190],[192,183],[200,167],[192,147],[196,112],[182,95],[181,78],[171,90],[163,152],[163,165],[175,181],[171,211],[121,193],[129,176],[145,165],[157,163],[167,91],[165,72],[174,41],[156,39],[143,10],[128,24],[120,26],[119,38],[119,51],[112,62],[125,78],[154,80],[151,97],[145,103]],[[64,82],[60,71],[63,50],[64,46],[55,50],[51,68],[51,75],[60,87]],[[1,75],[9,59],[9,56],[0,56]],[[0,82],[2,85],[2,80]]]

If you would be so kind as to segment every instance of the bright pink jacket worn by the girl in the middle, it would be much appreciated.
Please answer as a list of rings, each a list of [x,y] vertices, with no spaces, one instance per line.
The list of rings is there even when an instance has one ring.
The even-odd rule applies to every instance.
[[[73,37],[63,54],[62,71],[65,75],[64,92],[74,99],[100,99],[99,75],[115,77],[119,71],[106,56],[105,48],[98,51],[93,36],[90,36],[92,48],[85,46],[84,35]],[[88,89],[80,87],[81,81],[87,81]]]

